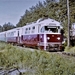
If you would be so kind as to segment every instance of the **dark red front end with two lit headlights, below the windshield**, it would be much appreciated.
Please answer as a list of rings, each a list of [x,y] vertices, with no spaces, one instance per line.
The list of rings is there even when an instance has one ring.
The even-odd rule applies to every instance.
[[[61,35],[60,34],[47,34],[47,47],[48,51],[57,51],[61,48]]]

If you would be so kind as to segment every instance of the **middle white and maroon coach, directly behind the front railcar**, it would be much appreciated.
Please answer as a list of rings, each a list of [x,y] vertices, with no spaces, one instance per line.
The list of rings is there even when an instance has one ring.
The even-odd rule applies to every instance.
[[[21,27],[6,31],[6,40],[8,43],[18,44],[19,38],[21,37],[21,31],[19,32],[20,29]]]

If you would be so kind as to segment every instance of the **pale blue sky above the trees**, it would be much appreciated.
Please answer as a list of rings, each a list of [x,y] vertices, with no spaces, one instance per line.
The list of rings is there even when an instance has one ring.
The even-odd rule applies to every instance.
[[[16,25],[25,10],[44,0],[0,0],[0,25],[10,22]]]

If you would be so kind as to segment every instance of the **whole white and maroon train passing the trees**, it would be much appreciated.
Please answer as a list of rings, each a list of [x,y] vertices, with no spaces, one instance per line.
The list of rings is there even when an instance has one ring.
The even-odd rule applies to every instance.
[[[62,51],[62,30],[60,22],[40,18],[25,26],[0,32],[0,41],[46,51]]]

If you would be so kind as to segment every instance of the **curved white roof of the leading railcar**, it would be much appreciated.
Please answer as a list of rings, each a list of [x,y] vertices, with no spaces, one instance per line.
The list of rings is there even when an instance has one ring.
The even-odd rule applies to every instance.
[[[60,26],[60,28],[63,28],[61,26],[61,23],[54,20],[54,19],[50,19],[50,18],[40,18],[38,19],[36,22],[32,22],[32,23],[28,23],[23,27],[28,27],[28,26],[34,26],[34,25],[38,25],[38,24],[45,24],[45,25],[50,25],[50,26]]]

